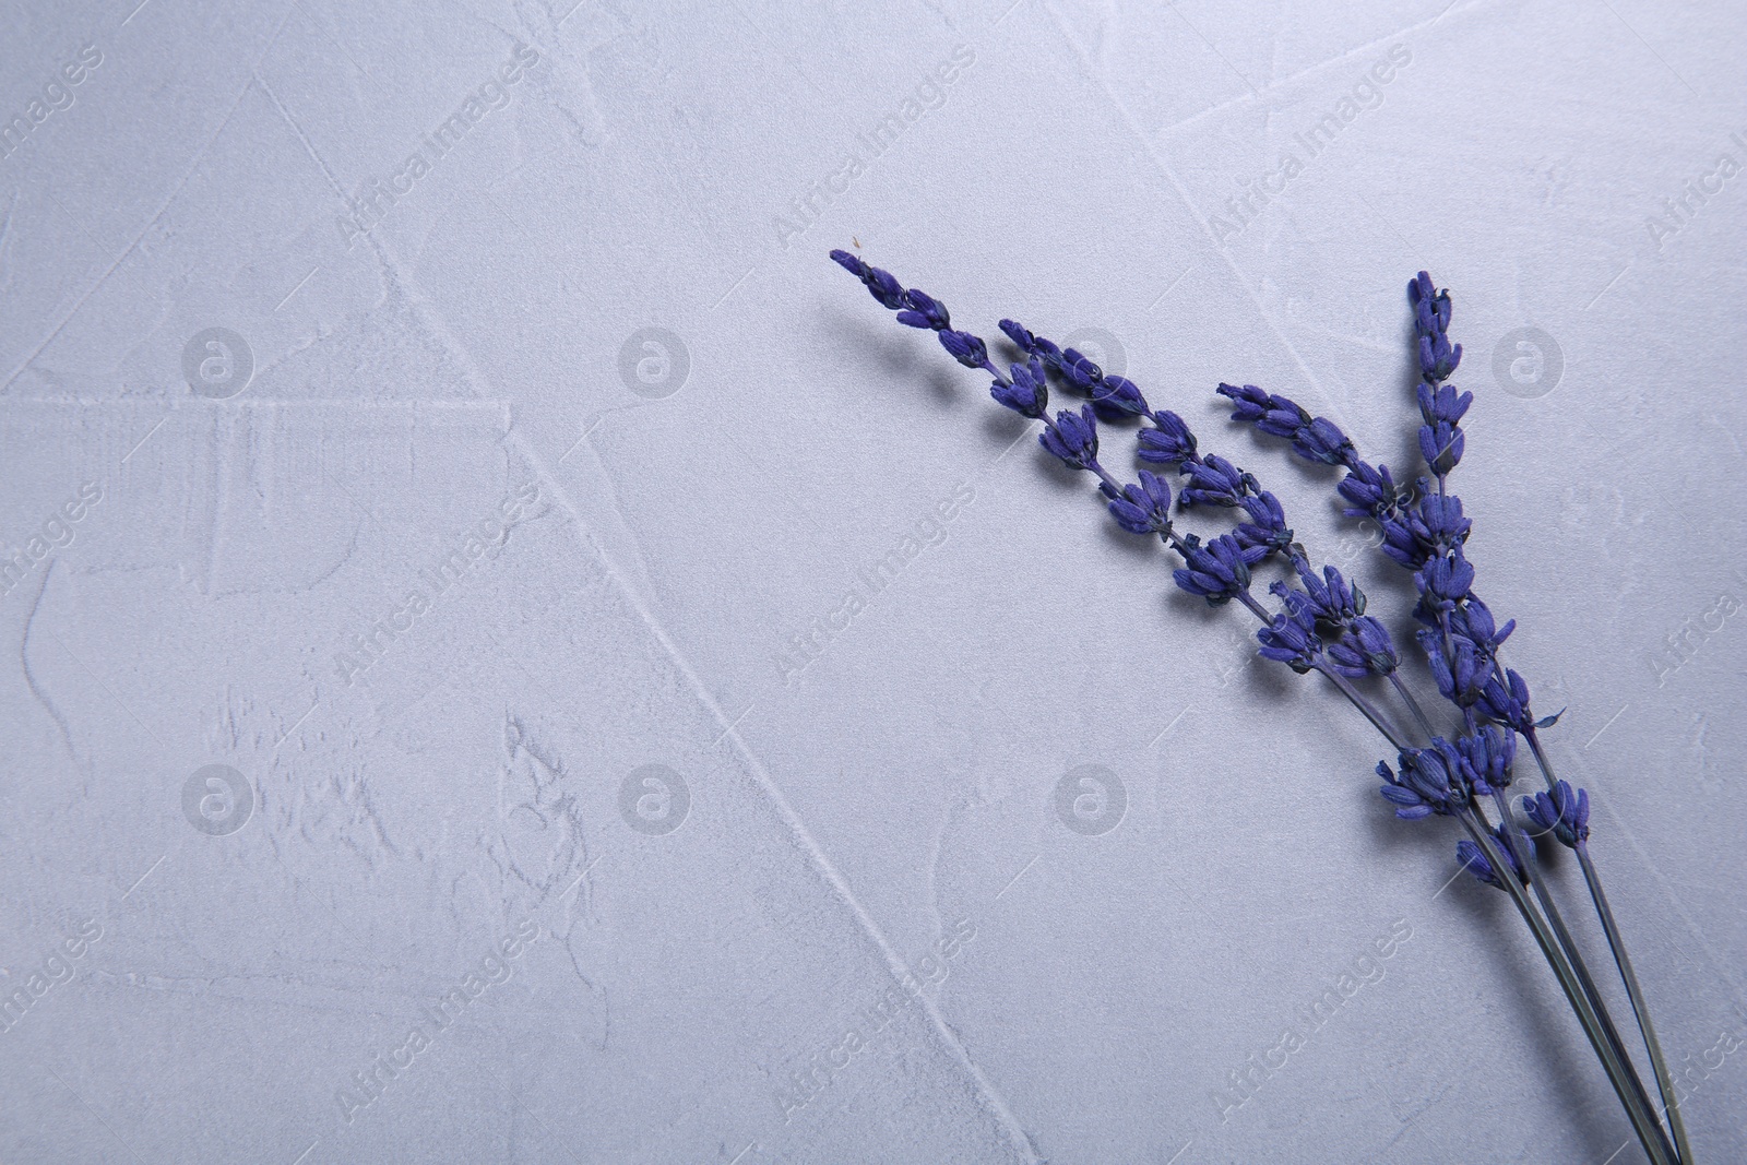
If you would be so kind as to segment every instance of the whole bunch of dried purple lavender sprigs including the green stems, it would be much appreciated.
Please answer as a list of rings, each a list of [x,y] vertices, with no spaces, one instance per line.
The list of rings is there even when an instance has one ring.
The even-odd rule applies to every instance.
[[[1476,879],[1511,898],[1558,978],[1649,1160],[1654,1165],[1691,1165],[1674,1081],[1590,856],[1588,791],[1572,789],[1553,774],[1536,734],[1557,714],[1537,720],[1529,706],[1529,685],[1502,664],[1501,646],[1516,624],[1497,624],[1474,592],[1474,568],[1462,552],[1471,520],[1462,514],[1462,500],[1450,493],[1448,479],[1462,461],[1462,416],[1473,393],[1459,393],[1448,383],[1462,360],[1462,346],[1448,339],[1448,292],[1434,288],[1424,271],[1408,283],[1420,369],[1419,451],[1427,470],[1412,482],[1398,482],[1389,466],[1364,461],[1328,417],[1314,417],[1286,396],[1254,384],[1218,388],[1232,402],[1233,419],[1289,442],[1300,458],[1342,470],[1336,489],[1347,517],[1377,522],[1384,533],[1382,552],[1412,571],[1419,594],[1413,608],[1420,625],[1419,646],[1438,692],[1460,716],[1457,732],[1441,734],[1401,681],[1401,657],[1389,629],[1366,613],[1364,592],[1333,566],[1317,571],[1286,524],[1281,501],[1261,489],[1253,473],[1218,454],[1204,454],[1183,417],[1153,410],[1132,381],[1106,376],[1074,349],[1062,349],[1013,320],[1001,320],[1001,332],[1020,349],[1022,360],[1010,363],[1003,374],[980,337],[952,327],[945,304],[905,288],[889,272],[849,252],[832,252],[832,259],[861,279],[884,307],[896,311],[898,323],[935,332],[959,363],[994,377],[989,393],[996,402],[1041,421],[1038,440],[1071,468],[1097,479],[1099,494],[1118,526],[1139,536],[1157,534],[1183,559],[1174,571],[1179,587],[1211,606],[1235,601],[1246,608],[1260,624],[1260,655],[1300,674],[1317,672],[1364,714],[1394,751],[1394,767],[1378,762],[1377,776],[1396,816],[1405,821],[1455,821],[1466,835],[1455,844],[1457,859]],[[1083,403],[1052,419],[1052,388],[1073,393]],[[1141,461],[1169,466],[1179,475],[1179,512],[1225,508],[1237,517],[1233,527],[1211,538],[1179,531],[1181,514],[1172,517],[1167,477],[1139,470],[1136,482],[1118,480],[1099,461],[1099,424],[1122,421],[1141,426],[1136,449]],[[1267,589],[1275,604],[1258,597],[1253,585],[1253,569],[1270,559],[1286,568],[1286,578]],[[1366,678],[1387,681],[1385,695],[1394,699],[1373,700],[1356,683]],[[1455,721],[1454,714],[1448,718]],[[1518,737],[1527,742],[1546,791],[1513,803],[1508,789],[1515,777]],[[1646,1090],[1543,877],[1536,852],[1536,838],[1543,837],[1578,856],[1590,903],[1630,999],[1639,1039],[1649,1053],[1656,1097]]]

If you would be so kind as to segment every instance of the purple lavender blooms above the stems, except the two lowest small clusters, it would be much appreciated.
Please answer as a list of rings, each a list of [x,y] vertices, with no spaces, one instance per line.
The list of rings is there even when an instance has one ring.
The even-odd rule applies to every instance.
[[[1001,332],[1020,349],[1022,360],[1003,376],[984,341],[956,330],[938,299],[903,288],[886,271],[847,252],[832,252],[832,259],[861,279],[875,300],[896,311],[900,323],[933,330],[956,360],[989,372],[994,377],[989,393],[996,402],[1043,421],[1038,437],[1043,449],[1074,470],[1097,475],[1118,526],[1134,534],[1158,534],[1183,557],[1183,566],[1172,571],[1183,590],[1211,606],[1233,599],[1251,606],[1263,620],[1256,632],[1260,655],[1298,672],[1328,671],[1345,679],[1387,676],[1399,685],[1394,643],[1387,627],[1366,615],[1364,592],[1333,566],[1321,573],[1312,569],[1293,540],[1279,498],[1232,461],[1200,452],[1181,416],[1153,410],[1127,377],[1106,374],[1073,348],[1062,349],[1015,320],[1001,320]],[[1420,367],[1419,444],[1433,477],[1399,486],[1389,466],[1366,463],[1340,426],[1279,393],[1254,384],[1219,384],[1218,393],[1232,402],[1235,421],[1291,442],[1293,452],[1307,461],[1343,468],[1338,491],[1347,514],[1378,522],[1384,554],[1413,573],[1419,592],[1413,613],[1422,624],[1417,639],[1438,692],[1464,716],[1464,730],[1454,742],[1433,735],[1426,748],[1399,749],[1399,774],[1387,763],[1377,769],[1384,796],[1396,805],[1398,816],[1413,819],[1455,812],[1497,795],[1509,784],[1516,732],[1532,730],[1537,721],[1530,714],[1527,683],[1497,658],[1515,622],[1499,627],[1490,608],[1474,596],[1474,568],[1464,555],[1473,522],[1462,512],[1462,500],[1445,486],[1460,463],[1460,421],[1473,402],[1471,393],[1459,393],[1447,383],[1462,358],[1460,344],[1448,339],[1450,295],[1420,272],[1408,285],[1408,300]],[[1052,381],[1085,403],[1062,409],[1052,419]],[[1099,461],[1099,423],[1125,419],[1141,421],[1136,456],[1181,475],[1176,491],[1146,470],[1137,484],[1118,482]],[[1230,508],[1244,520],[1211,538],[1179,534],[1170,517],[1172,500],[1179,510]],[[1281,604],[1268,613],[1256,603],[1251,583],[1253,569],[1274,555],[1289,562],[1295,580],[1268,587]],[[1558,817],[1557,807],[1548,805]]]

